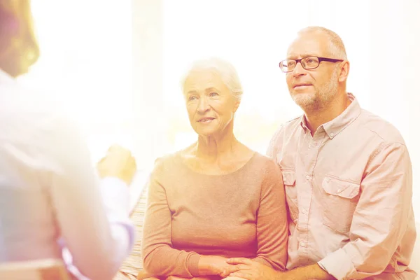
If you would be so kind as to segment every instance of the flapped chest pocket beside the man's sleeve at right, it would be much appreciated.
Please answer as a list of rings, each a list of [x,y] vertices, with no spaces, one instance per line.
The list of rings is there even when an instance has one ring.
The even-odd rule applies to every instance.
[[[360,197],[360,183],[327,175],[323,179],[322,188],[326,196],[322,199],[323,224],[336,232],[349,233]]]

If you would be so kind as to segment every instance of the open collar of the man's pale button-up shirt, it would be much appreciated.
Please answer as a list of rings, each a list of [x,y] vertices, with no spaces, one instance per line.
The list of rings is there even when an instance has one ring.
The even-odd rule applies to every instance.
[[[356,118],[360,115],[362,109],[360,109],[360,105],[358,104],[358,101],[356,97],[354,97],[353,94],[350,92],[347,93],[347,97],[350,99],[351,104],[335,119],[330,120],[328,123],[324,123],[321,125],[323,130],[325,130],[325,133],[328,134],[328,137],[330,139],[334,138],[339,134],[339,132],[342,132],[344,128],[346,128],[348,125],[350,125],[353,120],[356,120]],[[304,132],[309,132],[309,128],[307,127],[307,120],[304,115],[300,118],[300,126],[303,128]]]

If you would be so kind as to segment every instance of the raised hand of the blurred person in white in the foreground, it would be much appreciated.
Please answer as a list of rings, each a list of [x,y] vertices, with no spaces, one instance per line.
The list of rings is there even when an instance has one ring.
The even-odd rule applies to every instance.
[[[130,185],[137,170],[136,160],[131,152],[118,145],[111,146],[106,156],[97,163],[101,178],[117,177]]]

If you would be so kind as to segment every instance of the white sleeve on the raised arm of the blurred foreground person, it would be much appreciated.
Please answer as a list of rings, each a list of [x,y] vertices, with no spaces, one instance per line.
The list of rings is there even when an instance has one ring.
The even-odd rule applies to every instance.
[[[134,243],[123,181],[95,176],[76,123],[59,119],[49,130],[50,196],[62,241],[80,273],[112,279]]]

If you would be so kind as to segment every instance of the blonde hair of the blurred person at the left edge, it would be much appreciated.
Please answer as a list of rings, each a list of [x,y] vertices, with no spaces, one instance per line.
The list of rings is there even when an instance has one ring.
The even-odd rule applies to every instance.
[[[0,69],[20,76],[38,57],[30,0],[0,0]]]

